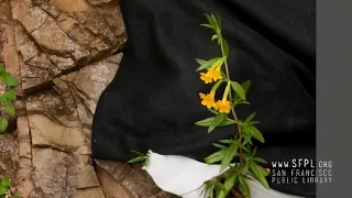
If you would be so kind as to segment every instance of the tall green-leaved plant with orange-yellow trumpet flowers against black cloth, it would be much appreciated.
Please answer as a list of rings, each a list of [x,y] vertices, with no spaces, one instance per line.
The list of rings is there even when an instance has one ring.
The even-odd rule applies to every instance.
[[[256,147],[253,147],[252,140],[264,143],[264,138],[260,130],[255,127],[258,121],[255,121],[255,113],[248,116],[244,120],[240,120],[235,108],[240,105],[250,105],[246,101],[246,92],[251,86],[251,81],[239,84],[231,80],[228,66],[229,45],[221,32],[220,16],[206,14],[207,24],[201,24],[205,28],[211,29],[215,34],[211,41],[217,42],[221,50],[221,56],[209,61],[197,58],[200,73],[200,79],[209,85],[208,94],[199,94],[201,105],[213,113],[213,117],[196,122],[199,127],[208,128],[208,132],[212,132],[219,127],[234,127],[234,135],[229,140],[219,140],[212,145],[219,148],[216,153],[205,158],[207,164],[220,163],[220,172],[227,167],[230,168],[211,180],[205,183],[205,190],[209,197],[224,198],[230,193],[235,197],[241,197],[239,191],[244,197],[251,197],[251,190],[246,182],[248,178],[256,178],[262,185],[270,189],[266,182],[268,172],[260,166],[265,164],[263,158],[256,157]],[[219,89],[221,85],[226,88]],[[221,98],[217,99],[216,94],[220,92]],[[218,94],[219,95],[219,94]],[[217,96],[218,96],[217,95]],[[235,161],[234,165],[230,164]]]

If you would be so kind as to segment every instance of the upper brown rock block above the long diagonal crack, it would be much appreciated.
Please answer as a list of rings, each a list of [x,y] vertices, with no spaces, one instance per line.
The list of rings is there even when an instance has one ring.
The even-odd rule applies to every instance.
[[[33,92],[62,73],[105,59],[127,37],[117,1],[99,7],[84,0],[11,0],[22,88]],[[76,9],[73,9],[76,8]],[[23,26],[23,29],[21,28]]]

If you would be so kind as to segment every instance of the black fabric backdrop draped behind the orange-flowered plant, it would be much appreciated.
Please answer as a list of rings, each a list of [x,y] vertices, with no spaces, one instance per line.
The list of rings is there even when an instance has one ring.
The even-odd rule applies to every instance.
[[[316,157],[316,3],[314,0],[120,0],[128,42],[119,72],[101,94],[92,127],[96,158],[128,161],[130,150],[204,161],[211,143],[233,128],[207,133],[196,127],[211,116],[195,58],[220,55],[205,13],[219,14],[230,46],[233,80],[251,80],[250,106],[266,142],[257,154],[271,162]],[[270,165],[270,164],[268,164]],[[306,197],[315,185],[272,188]]]

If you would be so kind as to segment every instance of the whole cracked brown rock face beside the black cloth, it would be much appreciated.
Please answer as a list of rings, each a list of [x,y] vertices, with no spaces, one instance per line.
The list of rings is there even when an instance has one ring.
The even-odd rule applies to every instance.
[[[95,108],[127,41],[118,0],[0,0],[0,62],[19,81],[0,178],[22,198],[167,197],[141,166],[91,157]]]

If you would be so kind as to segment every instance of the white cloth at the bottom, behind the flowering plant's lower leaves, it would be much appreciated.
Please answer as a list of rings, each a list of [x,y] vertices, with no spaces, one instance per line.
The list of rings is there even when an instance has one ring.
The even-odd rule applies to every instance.
[[[204,183],[221,174],[220,165],[208,165],[180,155],[161,155],[151,150],[147,155],[148,164],[142,168],[161,189],[183,198],[207,198],[206,194],[201,194]],[[251,198],[301,198],[268,190],[257,180],[248,179],[248,183]]]

